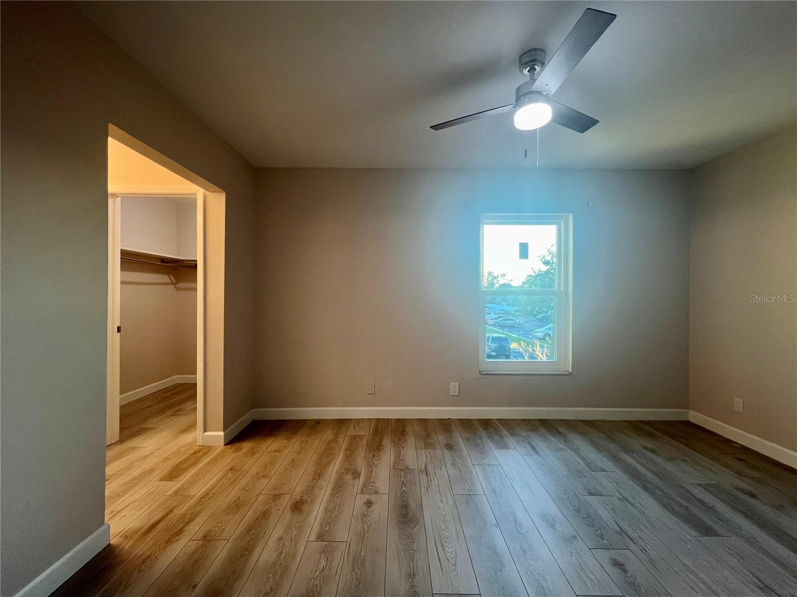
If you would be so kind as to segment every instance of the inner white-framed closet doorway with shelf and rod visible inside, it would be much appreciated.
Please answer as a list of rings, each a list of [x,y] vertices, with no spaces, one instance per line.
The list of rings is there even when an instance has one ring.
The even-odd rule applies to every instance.
[[[202,198],[190,187],[109,187],[107,444],[120,437],[121,405],[184,384],[202,395]]]

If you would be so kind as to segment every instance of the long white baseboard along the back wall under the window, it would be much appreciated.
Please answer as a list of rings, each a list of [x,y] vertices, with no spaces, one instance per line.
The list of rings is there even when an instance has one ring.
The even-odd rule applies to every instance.
[[[286,418],[580,418],[612,421],[685,421],[681,408],[548,407],[329,407],[254,408],[254,420]]]

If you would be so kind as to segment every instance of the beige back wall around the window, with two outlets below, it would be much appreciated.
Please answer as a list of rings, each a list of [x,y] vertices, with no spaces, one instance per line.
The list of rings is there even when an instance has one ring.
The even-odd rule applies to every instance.
[[[688,191],[683,171],[261,170],[256,405],[685,408]],[[572,375],[477,374],[484,212],[573,214]]]

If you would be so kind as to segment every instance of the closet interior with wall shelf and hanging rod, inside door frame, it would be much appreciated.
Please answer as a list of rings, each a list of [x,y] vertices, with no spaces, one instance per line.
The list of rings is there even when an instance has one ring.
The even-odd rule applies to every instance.
[[[197,205],[195,196],[121,195],[118,201],[125,404],[196,382]]]

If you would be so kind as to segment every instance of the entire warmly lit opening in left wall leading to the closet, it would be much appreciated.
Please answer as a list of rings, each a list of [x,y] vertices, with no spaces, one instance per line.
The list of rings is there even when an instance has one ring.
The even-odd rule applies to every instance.
[[[108,126],[108,461],[175,431],[226,440],[225,212],[222,189]]]

